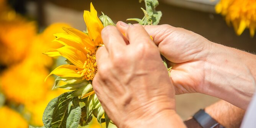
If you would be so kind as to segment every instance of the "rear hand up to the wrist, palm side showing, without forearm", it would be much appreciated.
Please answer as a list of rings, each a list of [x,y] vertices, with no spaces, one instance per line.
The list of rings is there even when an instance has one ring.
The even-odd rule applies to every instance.
[[[117,23],[118,30],[126,33],[126,27]],[[210,41],[182,28],[170,25],[145,26],[154,39],[160,53],[172,66],[171,80],[176,94],[203,92],[204,67],[209,54]]]

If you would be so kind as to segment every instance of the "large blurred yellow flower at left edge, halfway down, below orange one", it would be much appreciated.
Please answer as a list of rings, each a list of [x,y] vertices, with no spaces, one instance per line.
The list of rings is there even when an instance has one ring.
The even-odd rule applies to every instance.
[[[53,78],[44,82],[48,70],[38,68],[34,60],[26,59],[3,72],[0,87],[7,100],[26,104],[44,99],[53,86]]]

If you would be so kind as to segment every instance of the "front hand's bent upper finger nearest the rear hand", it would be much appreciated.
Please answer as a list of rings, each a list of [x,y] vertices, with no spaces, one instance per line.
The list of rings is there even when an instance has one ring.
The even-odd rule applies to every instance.
[[[148,42],[154,44],[149,34],[146,32],[143,26],[139,24],[129,25],[126,31],[126,36],[129,39],[130,44]]]

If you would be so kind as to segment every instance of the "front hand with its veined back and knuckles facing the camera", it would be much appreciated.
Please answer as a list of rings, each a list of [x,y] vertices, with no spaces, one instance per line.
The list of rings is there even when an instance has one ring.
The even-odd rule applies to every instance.
[[[118,127],[184,126],[158,47],[141,25],[130,25],[126,36],[128,45],[115,26],[102,30],[92,85],[105,112]]]

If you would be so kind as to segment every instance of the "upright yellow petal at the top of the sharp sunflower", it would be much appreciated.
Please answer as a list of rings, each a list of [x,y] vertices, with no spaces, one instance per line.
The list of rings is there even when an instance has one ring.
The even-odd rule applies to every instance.
[[[88,29],[89,37],[94,40],[95,45],[102,43],[100,36],[103,25],[97,16],[97,11],[91,3],[90,11],[84,11],[84,21]]]

